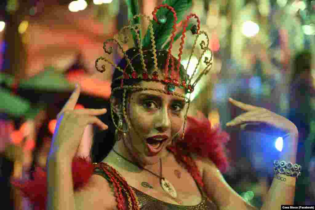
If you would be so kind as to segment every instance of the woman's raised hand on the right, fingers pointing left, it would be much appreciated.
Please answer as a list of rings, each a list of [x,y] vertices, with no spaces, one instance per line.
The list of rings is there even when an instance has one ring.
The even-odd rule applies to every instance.
[[[295,124],[293,124],[290,120],[276,113],[273,113],[266,108],[255,107],[236,101],[232,98],[229,98],[229,102],[247,112],[240,114],[238,117],[226,123],[226,126],[237,126],[243,124],[267,124],[284,132],[285,134],[298,133]]]

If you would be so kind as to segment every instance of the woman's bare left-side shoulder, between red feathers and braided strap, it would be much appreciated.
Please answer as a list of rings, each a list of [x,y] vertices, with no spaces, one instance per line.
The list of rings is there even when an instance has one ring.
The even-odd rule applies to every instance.
[[[110,184],[105,178],[97,174],[91,176],[83,189],[75,192],[75,200],[78,210],[117,209],[117,202]]]

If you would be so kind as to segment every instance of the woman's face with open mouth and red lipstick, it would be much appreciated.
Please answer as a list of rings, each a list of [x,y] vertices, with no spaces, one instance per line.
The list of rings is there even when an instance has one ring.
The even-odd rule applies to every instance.
[[[140,85],[144,88],[166,88],[165,84],[153,81],[142,81]],[[175,92],[180,95],[185,93],[184,89],[178,87]],[[129,154],[142,165],[153,165],[165,157],[166,146],[171,144],[175,135],[182,130],[187,108],[185,105],[185,99],[182,97],[150,90],[133,92],[126,110],[130,128],[127,135],[129,138],[125,143]],[[153,145],[148,137],[156,135],[165,135],[167,139]]]

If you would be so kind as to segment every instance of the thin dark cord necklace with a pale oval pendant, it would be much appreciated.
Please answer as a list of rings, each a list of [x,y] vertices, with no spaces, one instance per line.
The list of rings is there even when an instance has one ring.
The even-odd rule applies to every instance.
[[[135,166],[139,167],[140,169],[144,169],[148,172],[150,172],[151,174],[157,176],[159,179],[160,179],[160,185],[162,187],[162,189],[168,193],[173,199],[176,200],[176,202],[178,203],[182,203],[179,199],[177,199],[177,192],[175,190],[175,187],[172,185],[172,183],[169,182],[169,180],[165,179],[164,177],[162,177],[162,159],[160,158],[160,168],[161,168],[161,172],[160,172],[160,176],[153,173],[152,171],[148,170],[148,169],[145,169],[143,168],[142,166],[138,165],[138,164],[135,164],[133,163],[132,161],[128,160],[127,158],[123,157],[121,154],[119,154],[118,152],[116,152],[114,150],[114,148],[112,149],[117,155],[119,155],[120,157],[122,157],[124,160],[128,161],[129,163],[132,163],[134,164]]]

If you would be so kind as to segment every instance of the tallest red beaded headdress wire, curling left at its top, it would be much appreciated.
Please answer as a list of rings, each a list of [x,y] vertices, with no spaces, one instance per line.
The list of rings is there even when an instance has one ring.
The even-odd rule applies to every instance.
[[[169,53],[168,53],[168,55],[167,55],[167,60],[166,60],[166,64],[165,64],[165,77],[168,77],[168,74],[169,74],[169,59],[171,58],[171,53],[172,53],[172,48],[173,48],[173,42],[174,42],[175,32],[176,32],[176,30],[177,30],[177,27],[176,27],[176,26],[177,26],[177,25],[176,25],[176,23],[177,23],[177,15],[176,15],[176,11],[174,10],[173,7],[171,7],[171,6],[167,5],[167,4],[159,5],[159,6],[155,7],[154,10],[153,10],[153,12],[152,12],[152,14],[153,14],[153,19],[154,19],[157,23],[159,23],[159,22],[158,22],[158,20],[157,20],[156,13],[157,13],[157,10],[158,10],[159,8],[161,8],[161,7],[166,7],[166,8],[168,8],[168,9],[173,13],[173,17],[174,17],[174,21],[173,21],[173,24],[174,24],[174,25],[173,25],[173,31],[172,31],[171,41],[170,41],[170,44],[169,44]],[[172,65],[172,70],[173,70],[173,69],[174,69],[174,59],[172,59],[171,65]],[[174,78],[172,78],[172,79],[174,79]]]

